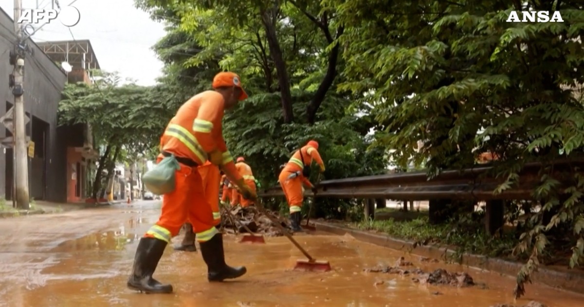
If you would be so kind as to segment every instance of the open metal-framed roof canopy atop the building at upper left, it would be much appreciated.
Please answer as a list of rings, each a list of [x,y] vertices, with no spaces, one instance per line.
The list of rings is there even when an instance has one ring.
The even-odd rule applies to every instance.
[[[61,40],[36,42],[37,46],[53,61],[68,62],[73,70],[99,70],[98,59],[89,40]]]

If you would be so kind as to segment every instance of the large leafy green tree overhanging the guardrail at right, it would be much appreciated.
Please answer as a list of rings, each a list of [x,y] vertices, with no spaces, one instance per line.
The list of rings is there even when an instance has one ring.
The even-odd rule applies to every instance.
[[[433,175],[469,167],[491,151],[500,157],[497,175],[507,178],[502,191],[517,184],[525,163],[550,165],[582,152],[584,110],[572,91],[584,82],[582,2],[324,2],[345,25],[340,89],[368,94],[356,104],[374,105],[371,113],[385,127],[376,146],[395,149],[390,157],[401,167],[426,163]],[[529,9],[559,11],[564,22],[506,22],[510,11]],[[570,265],[582,260],[584,181],[576,176],[560,198],[552,169],[540,174],[534,199],[543,210],[517,246],[530,255],[517,277],[517,297],[554,229],[568,226],[562,235],[573,246]]]

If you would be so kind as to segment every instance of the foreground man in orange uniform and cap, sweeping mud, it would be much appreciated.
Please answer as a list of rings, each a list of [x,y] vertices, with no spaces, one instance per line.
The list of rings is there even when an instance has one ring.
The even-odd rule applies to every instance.
[[[224,109],[233,108],[247,98],[239,76],[219,73],[213,79],[214,91],[194,95],[180,106],[161,137],[161,154],[174,157],[180,168],[175,174],[174,191],[164,194],[161,216],[138,243],[134,266],[127,286],[146,293],[171,293],[172,285],[161,284],[152,274],[164,253],[166,244],[179,233],[185,222],[193,223],[193,231],[207,264],[208,281],[223,281],[244,275],[245,267],[225,264],[223,236],[215,228],[213,211],[207,203],[199,165],[207,160],[221,168],[241,189],[246,198],[256,195],[239,175],[233,157],[223,139]]]

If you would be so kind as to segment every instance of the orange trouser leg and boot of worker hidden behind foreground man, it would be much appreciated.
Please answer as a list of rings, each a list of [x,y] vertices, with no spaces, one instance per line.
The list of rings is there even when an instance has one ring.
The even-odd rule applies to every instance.
[[[213,223],[215,224],[215,228],[220,229],[221,213],[219,211],[219,184],[221,180],[221,171],[217,165],[214,165],[210,161],[197,167],[197,171],[199,171],[199,174],[201,175],[205,196],[207,202],[211,206],[211,210],[213,211]],[[192,223],[185,223],[183,227],[185,228],[185,237],[183,237],[180,245],[175,247],[175,250],[197,251],[197,247],[194,245],[196,235],[193,232]]]

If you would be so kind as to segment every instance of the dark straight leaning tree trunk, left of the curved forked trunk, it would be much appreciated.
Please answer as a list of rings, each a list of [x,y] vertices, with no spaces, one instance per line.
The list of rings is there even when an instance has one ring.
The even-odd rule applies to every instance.
[[[290,92],[290,78],[288,78],[288,71],[286,61],[282,56],[282,50],[278,37],[276,35],[276,20],[278,7],[268,9],[262,12],[262,24],[266,30],[267,45],[270,48],[270,56],[274,60],[276,66],[276,73],[278,75],[278,85],[280,87],[280,95],[282,102],[282,109],[284,112],[284,123],[291,123],[294,121],[294,113],[292,111],[292,94]]]

